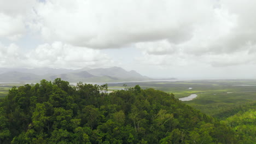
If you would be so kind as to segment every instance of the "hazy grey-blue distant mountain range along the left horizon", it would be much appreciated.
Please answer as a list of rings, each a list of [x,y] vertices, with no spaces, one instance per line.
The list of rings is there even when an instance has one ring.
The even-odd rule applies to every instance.
[[[69,82],[115,82],[115,81],[146,81],[153,80],[137,73],[135,70],[126,71],[120,67],[98,69],[15,69],[0,68],[0,82],[39,82],[42,79],[53,81],[60,77]]]

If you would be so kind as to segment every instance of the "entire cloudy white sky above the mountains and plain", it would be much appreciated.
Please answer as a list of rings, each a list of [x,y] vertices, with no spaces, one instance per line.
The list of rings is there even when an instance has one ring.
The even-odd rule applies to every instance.
[[[255,79],[254,0],[0,0],[0,67]]]

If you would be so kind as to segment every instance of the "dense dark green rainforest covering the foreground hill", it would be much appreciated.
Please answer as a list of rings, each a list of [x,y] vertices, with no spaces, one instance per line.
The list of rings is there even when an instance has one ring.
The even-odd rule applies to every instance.
[[[252,143],[236,119],[253,111],[219,122],[173,94],[107,88],[61,79],[11,88],[0,100],[0,143]]]

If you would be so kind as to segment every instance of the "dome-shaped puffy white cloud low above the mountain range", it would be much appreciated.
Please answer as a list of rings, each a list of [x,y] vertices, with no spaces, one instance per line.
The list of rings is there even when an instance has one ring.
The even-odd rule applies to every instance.
[[[44,44],[28,53],[34,67],[83,68],[111,64],[111,59],[99,50],[77,47],[61,42]]]

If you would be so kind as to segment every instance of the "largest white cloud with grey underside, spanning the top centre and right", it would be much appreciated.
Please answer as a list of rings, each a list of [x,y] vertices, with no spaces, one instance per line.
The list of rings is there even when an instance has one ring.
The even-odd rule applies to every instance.
[[[242,4],[245,7],[237,7]],[[148,63],[186,65],[191,61],[187,56],[208,57],[203,62],[217,66],[222,64],[214,63],[214,57],[225,55],[234,61],[223,65],[235,65],[244,62],[232,57],[255,43],[256,27],[250,25],[252,31],[247,31],[254,22],[247,16],[254,11],[246,11],[251,5],[254,2],[48,0],[37,5],[34,25],[48,41],[92,49],[135,44],[144,53],[140,60]]]

